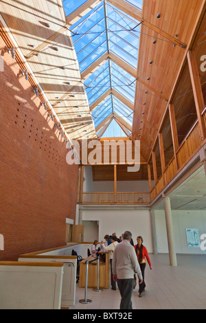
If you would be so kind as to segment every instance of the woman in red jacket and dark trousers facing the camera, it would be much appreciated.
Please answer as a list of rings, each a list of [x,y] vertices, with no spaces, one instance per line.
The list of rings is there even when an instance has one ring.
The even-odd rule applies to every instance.
[[[152,265],[150,263],[150,258],[148,256],[148,251],[146,247],[144,247],[143,238],[141,236],[137,236],[137,245],[135,245],[135,252],[137,254],[137,260],[139,262],[139,266],[141,269],[141,274],[143,277],[143,282],[139,285],[139,297],[142,297],[142,292],[144,291],[146,284],[144,281],[144,271],[146,267],[146,260],[148,260],[148,264],[150,266],[150,269],[152,269]]]

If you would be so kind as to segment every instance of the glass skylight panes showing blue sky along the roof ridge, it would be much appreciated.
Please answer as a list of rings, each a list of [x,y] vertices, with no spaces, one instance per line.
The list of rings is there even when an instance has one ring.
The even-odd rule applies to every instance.
[[[131,0],[133,1],[133,0]],[[65,1],[64,1],[65,2]],[[85,3],[87,1],[82,1],[82,3]],[[126,1],[130,2],[130,1]],[[96,23],[95,20],[91,19],[89,23],[90,17],[93,17],[94,14],[99,14],[100,17],[102,17],[102,10],[104,6],[104,18],[100,19]],[[108,16],[107,14],[107,8],[109,7],[109,10],[114,10],[115,14],[113,16]],[[101,11],[99,11],[101,10]],[[115,18],[115,15],[119,16],[118,21],[114,21],[113,19]],[[105,30],[104,30],[104,25],[101,25],[105,21]],[[114,24],[116,28],[115,30],[112,30],[112,28],[108,27],[108,21]],[[124,22],[120,24],[120,22]],[[132,23],[132,27],[130,27],[130,23]],[[80,64],[80,71],[84,71],[88,67],[91,66],[91,64],[100,58],[104,54],[115,54],[116,56],[119,56],[122,58],[122,60],[125,60],[127,64],[130,64],[133,67],[137,67],[137,56],[138,56],[138,45],[139,45],[139,36],[137,35],[138,30],[135,30],[135,28],[138,26],[139,22],[135,21],[132,17],[128,16],[126,13],[121,12],[121,10],[113,7],[113,5],[109,4],[106,2],[106,0],[103,0],[100,5],[98,4],[97,8],[93,8],[91,10],[91,13],[86,14],[85,18],[82,17],[80,19],[80,22],[77,22],[74,24],[74,26],[71,26],[71,30],[73,33],[73,40],[74,40],[74,46],[78,48],[77,55],[80,56],[82,52],[84,52],[85,49],[89,49],[89,47],[92,46],[91,52],[88,52],[89,54],[87,56],[82,56],[82,60],[79,61]],[[87,25],[89,25],[89,29],[87,28]],[[100,31],[95,31],[95,28],[100,27]],[[102,29],[103,28],[103,29]],[[102,29],[102,31],[101,31]],[[84,32],[82,32],[84,30]],[[77,32],[76,32],[77,31]],[[75,34],[76,32],[76,34]],[[133,45],[133,41],[128,42],[125,38],[126,36],[123,37],[124,33],[130,34],[131,37],[133,37],[134,41],[137,39],[137,48],[136,45]],[[104,38],[104,33],[106,34],[106,37]],[[92,36],[93,34],[93,36]],[[84,45],[81,45],[81,40],[82,39],[90,39],[89,42],[84,41]],[[85,38],[86,37],[86,38]],[[100,42],[100,45],[98,44],[98,40],[100,40],[100,37],[102,37],[102,40],[105,39],[102,43]],[[119,41],[121,42],[121,46],[119,46],[117,43],[115,43],[115,39],[111,38],[118,38]],[[79,43],[78,43],[79,42]],[[130,50],[124,50],[124,44],[128,46],[130,49],[134,49],[136,51],[135,56],[130,54]],[[111,47],[110,47],[111,45]],[[78,46],[78,47],[77,47]],[[102,46],[104,46],[102,48]],[[80,48],[82,47],[82,48]],[[116,49],[116,50],[115,50]],[[91,60],[91,62],[89,62]],[[133,63],[131,64],[131,60],[133,60]],[[111,92],[113,89],[115,89],[121,96],[124,96],[126,100],[130,101],[132,104],[134,102],[135,98],[135,87],[133,84],[135,83],[135,78],[130,76],[124,69],[122,69],[121,72],[120,67],[113,63],[110,58],[108,58],[108,65],[104,69],[101,69],[100,67],[98,70],[95,70],[94,78],[90,75],[89,78],[89,83],[87,80],[84,81],[85,83],[85,90],[87,92],[89,104],[95,103],[97,100],[98,102],[100,101],[100,97],[102,96],[102,102],[95,107],[95,104],[93,104],[93,111],[91,114],[93,115],[93,120],[95,123],[95,126],[100,124],[102,120],[106,119],[108,115],[111,114],[111,109],[113,114],[117,115],[119,118],[122,118],[122,120],[125,120],[128,124],[132,123],[133,120],[133,110],[132,107],[126,106],[123,102],[120,104],[117,104],[117,98],[111,94],[110,99],[108,100],[103,100],[103,95],[108,91],[108,89],[111,89]],[[109,70],[109,78],[108,74],[106,74],[106,70]],[[100,73],[98,73],[98,71]],[[102,79],[102,76],[105,77]],[[93,74],[92,74],[93,75]],[[121,78],[119,77],[121,76]],[[108,82],[104,82],[104,80],[107,79]],[[105,95],[104,95],[105,97]],[[121,97],[120,97],[121,99]],[[107,102],[107,103],[106,103]],[[119,101],[120,102],[120,101]],[[125,101],[124,101],[125,102]],[[130,104],[129,104],[130,105]]]

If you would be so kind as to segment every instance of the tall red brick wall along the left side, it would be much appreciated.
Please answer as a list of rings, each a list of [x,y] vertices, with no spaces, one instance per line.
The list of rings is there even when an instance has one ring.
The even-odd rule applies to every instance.
[[[78,165],[0,37],[0,260],[65,245],[76,216]]]

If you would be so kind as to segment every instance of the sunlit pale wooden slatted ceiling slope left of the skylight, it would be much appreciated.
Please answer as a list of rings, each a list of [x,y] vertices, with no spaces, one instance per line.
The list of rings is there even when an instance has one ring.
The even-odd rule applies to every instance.
[[[57,33],[54,41],[44,44],[39,56],[33,52],[29,55],[30,58],[27,58],[27,62],[47,98],[54,104],[54,109],[69,137],[77,139],[84,135],[95,138],[95,126],[89,113],[87,94],[80,82],[80,70],[71,34],[66,29],[58,34],[60,28],[65,25],[60,1],[35,0],[25,3],[23,0],[5,0],[0,2],[0,9],[24,56],[31,54],[32,46],[38,48]],[[46,27],[45,23],[49,23],[49,27]],[[79,108],[74,108],[77,106]]]

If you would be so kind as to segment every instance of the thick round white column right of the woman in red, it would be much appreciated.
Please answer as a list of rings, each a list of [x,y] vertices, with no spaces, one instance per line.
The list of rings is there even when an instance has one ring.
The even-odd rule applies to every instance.
[[[174,246],[174,234],[172,226],[172,211],[170,205],[170,197],[164,197],[164,206],[165,206],[165,221],[168,234],[168,249],[170,256],[170,266],[176,266],[176,252]]]

